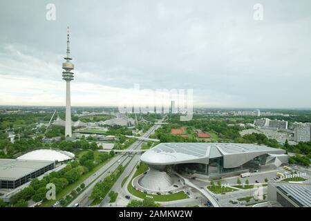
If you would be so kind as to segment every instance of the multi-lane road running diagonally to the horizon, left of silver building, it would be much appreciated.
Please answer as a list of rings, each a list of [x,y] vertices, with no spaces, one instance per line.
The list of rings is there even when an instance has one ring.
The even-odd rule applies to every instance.
[[[164,117],[163,117],[164,119]],[[162,120],[160,122],[162,122]],[[161,125],[153,125],[149,130],[142,135],[142,137],[149,137],[154,131],[156,131]],[[143,141],[137,140],[127,150],[135,150],[139,149],[141,147]],[[122,164],[125,166],[128,162],[129,165],[126,166],[126,169],[124,169],[123,173],[120,175],[120,177],[117,179],[111,190],[115,191],[119,187],[121,188],[121,182],[124,180],[124,178],[131,173],[133,170],[134,166],[137,164],[137,162],[140,160],[140,155],[117,155],[116,157],[113,157],[108,163],[106,163],[104,166],[102,166],[98,171],[96,171],[93,175],[88,177],[85,181],[84,184],[86,185],[86,189],[82,191],[77,198],[75,198],[70,204],[68,204],[67,207],[72,207],[75,204],[79,204],[79,206],[84,207],[84,206],[90,206],[91,205],[91,200],[89,200],[89,196],[91,195],[93,188],[97,182],[100,182],[101,180],[104,179],[104,177],[110,175],[115,169],[117,169],[117,166],[119,164]],[[107,202],[109,199],[109,196],[106,195],[106,198],[102,201],[102,204]],[[108,200],[109,202],[109,200]]]

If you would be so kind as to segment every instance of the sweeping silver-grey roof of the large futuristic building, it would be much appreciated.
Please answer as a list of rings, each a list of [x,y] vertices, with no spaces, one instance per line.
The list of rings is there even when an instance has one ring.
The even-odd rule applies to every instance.
[[[147,164],[209,164],[209,159],[223,156],[223,166],[234,168],[263,154],[283,154],[284,150],[256,144],[162,143],[146,151],[140,160]]]

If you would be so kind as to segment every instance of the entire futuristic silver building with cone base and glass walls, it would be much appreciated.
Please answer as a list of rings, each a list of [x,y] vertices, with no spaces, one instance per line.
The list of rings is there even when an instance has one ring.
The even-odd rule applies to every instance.
[[[149,171],[136,180],[148,191],[174,189],[179,173],[191,177],[223,177],[273,169],[288,162],[285,150],[256,144],[162,143],[146,151],[140,160]],[[174,185],[175,184],[175,185]]]

